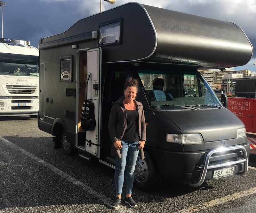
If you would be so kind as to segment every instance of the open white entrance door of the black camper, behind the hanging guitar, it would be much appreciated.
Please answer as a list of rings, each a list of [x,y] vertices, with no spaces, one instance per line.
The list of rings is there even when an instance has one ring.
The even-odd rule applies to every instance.
[[[90,107],[94,108],[95,128],[85,132],[85,149],[94,156],[98,156],[100,135],[100,64],[100,48],[89,49],[87,51],[87,74],[90,74],[90,80],[87,85],[87,100],[90,100],[90,103],[92,103]]]

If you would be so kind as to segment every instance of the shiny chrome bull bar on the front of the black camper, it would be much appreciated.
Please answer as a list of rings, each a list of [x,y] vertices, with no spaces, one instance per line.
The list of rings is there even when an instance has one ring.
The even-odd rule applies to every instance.
[[[243,151],[244,159],[230,161],[230,162],[221,163],[221,164],[214,164],[214,165],[209,166],[209,160],[210,160],[210,157],[213,154],[215,154],[215,153],[225,153],[227,151],[237,150],[237,149],[241,149]],[[206,173],[209,169],[225,168],[225,167],[228,167],[228,166],[241,164],[241,163],[244,163],[244,171],[240,172],[239,174],[244,175],[248,171],[248,157],[247,157],[246,149],[243,146],[236,145],[236,146],[231,146],[231,147],[214,148],[211,151],[209,151],[208,154],[206,155],[205,163],[204,163],[204,170],[203,170],[203,173],[202,173],[202,176],[201,176],[200,180],[197,183],[189,183],[189,185],[190,186],[195,186],[195,187],[202,185],[203,182],[204,182]]]

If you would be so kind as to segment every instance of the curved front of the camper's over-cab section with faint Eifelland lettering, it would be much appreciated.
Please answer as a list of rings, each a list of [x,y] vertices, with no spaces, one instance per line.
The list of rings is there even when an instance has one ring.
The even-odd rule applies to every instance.
[[[147,61],[220,68],[246,64],[252,57],[252,44],[231,22],[143,6],[158,36]]]

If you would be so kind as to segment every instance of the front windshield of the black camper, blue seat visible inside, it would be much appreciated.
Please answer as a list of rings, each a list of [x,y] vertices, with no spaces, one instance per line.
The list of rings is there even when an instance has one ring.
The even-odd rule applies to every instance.
[[[223,108],[210,85],[197,71],[138,70],[138,73],[152,107],[180,110]]]

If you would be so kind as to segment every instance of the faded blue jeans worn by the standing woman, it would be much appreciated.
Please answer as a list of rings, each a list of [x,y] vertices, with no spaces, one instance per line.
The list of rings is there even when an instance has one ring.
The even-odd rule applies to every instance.
[[[134,180],[134,168],[138,158],[139,142],[125,142],[121,141],[122,147],[120,149],[121,158],[116,157],[116,172],[115,172],[115,186],[116,194],[122,194],[122,188],[125,179],[126,194],[132,194],[132,185]],[[125,176],[125,177],[124,177]]]

